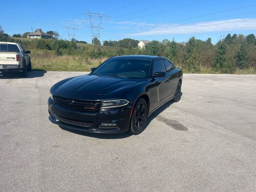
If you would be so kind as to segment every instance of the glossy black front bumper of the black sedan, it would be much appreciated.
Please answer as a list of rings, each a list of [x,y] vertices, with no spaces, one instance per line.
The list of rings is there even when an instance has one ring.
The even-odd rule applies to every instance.
[[[128,105],[122,108],[85,112],[61,107],[51,98],[48,99],[49,120],[52,123],[91,133],[120,133],[128,131],[131,110],[132,106]]]

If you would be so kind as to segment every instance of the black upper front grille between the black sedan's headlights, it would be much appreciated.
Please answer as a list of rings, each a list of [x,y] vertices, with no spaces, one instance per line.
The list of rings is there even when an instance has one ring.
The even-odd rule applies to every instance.
[[[100,108],[100,101],[84,101],[76,99],[67,99],[53,96],[54,102],[62,107],[81,110],[81,111],[96,111]]]

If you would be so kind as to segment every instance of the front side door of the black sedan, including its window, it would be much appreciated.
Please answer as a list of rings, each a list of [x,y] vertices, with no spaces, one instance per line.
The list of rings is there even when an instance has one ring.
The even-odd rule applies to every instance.
[[[154,61],[152,75],[154,75],[155,72],[165,72],[165,68],[161,59]],[[160,104],[167,100],[167,97],[169,95],[168,79],[168,76],[154,78],[154,84],[156,88],[154,90],[154,97],[156,102],[152,103],[154,108],[157,108]]]

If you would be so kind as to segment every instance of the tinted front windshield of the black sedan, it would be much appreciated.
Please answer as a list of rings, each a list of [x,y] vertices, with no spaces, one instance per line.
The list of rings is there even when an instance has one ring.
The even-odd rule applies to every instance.
[[[151,60],[136,58],[113,58],[100,65],[92,74],[148,78]]]

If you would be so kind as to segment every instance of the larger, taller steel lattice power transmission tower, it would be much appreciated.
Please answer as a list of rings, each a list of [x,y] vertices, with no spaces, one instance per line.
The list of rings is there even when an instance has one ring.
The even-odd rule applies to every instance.
[[[88,13],[81,13],[82,15],[88,15],[90,18],[90,28],[92,31],[92,44],[100,45],[100,30],[102,29],[102,17],[109,17],[101,13],[91,13],[88,10]],[[98,39],[98,41],[95,40]]]

